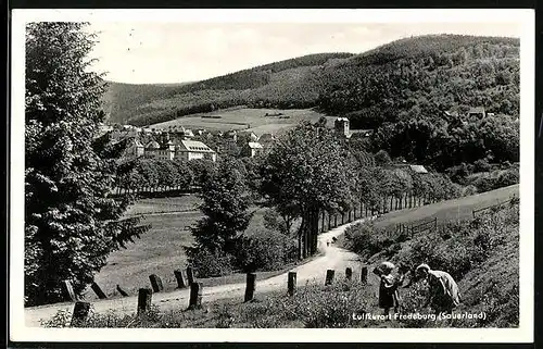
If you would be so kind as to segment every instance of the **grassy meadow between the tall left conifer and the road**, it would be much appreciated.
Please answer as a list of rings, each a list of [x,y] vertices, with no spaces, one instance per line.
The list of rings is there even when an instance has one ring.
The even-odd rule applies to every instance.
[[[156,211],[167,207],[168,202],[173,209],[188,208],[198,201],[194,197],[146,199],[136,203],[132,212]],[[251,210],[256,210],[252,208]],[[254,234],[264,228],[264,210],[255,211],[245,234]],[[188,226],[195,224],[202,217],[199,211],[184,213],[165,213],[144,215],[141,223],[150,224],[151,229],[128,244],[126,249],[113,252],[108,259],[108,265],[96,275],[96,282],[108,297],[119,297],[116,291],[118,284],[129,295],[135,295],[138,288],[150,286],[149,275],[156,274],[162,278],[164,288],[173,290],[176,287],[174,270],[187,267],[187,257],[184,246],[190,246],[193,237]],[[281,273],[261,273],[260,278],[270,277]],[[245,274],[235,274],[224,277],[202,279],[204,286],[214,286],[241,282]],[[96,299],[92,290],[88,290],[86,299]]]

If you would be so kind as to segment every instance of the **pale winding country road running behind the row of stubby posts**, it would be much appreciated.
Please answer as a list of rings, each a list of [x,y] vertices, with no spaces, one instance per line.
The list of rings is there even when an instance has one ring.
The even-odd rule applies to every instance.
[[[363,220],[355,221],[351,224],[362,222]],[[357,270],[359,264],[358,255],[346,251],[344,249],[333,246],[332,238],[338,237],[344,233],[345,228],[351,224],[339,226],[330,232],[320,234],[318,236],[318,249],[323,255],[315,258],[313,261],[302,264],[292,269],[296,272],[296,282],[299,286],[312,282],[323,282],[325,279],[326,270],[333,269],[342,275],[346,266],[353,266]],[[330,242],[329,246],[327,246]],[[256,283],[256,295],[258,292],[266,292],[273,290],[280,290],[285,288],[287,291],[288,273],[277,275]],[[203,300],[216,300],[225,298],[243,297],[245,284],[228,284],[214,286],[203,289]],[[157,292],[153,294],[152,302],[160,307],[161,310],[169,310],[175,308],[187,308],[189,301],[189,289],[181,289],[172,292]],[[115,310],[117,314],[131,314],[136,311],[138,297],[126,297],[116,299],[97,300],[92,302],[94,312],[103,313],[108,310]],[[51,319],[59,310],[72,311],[73,303],[56,303],[51,306],[33,307],[25,309],[25,323],[26,326],[39,326],[40,320]]]

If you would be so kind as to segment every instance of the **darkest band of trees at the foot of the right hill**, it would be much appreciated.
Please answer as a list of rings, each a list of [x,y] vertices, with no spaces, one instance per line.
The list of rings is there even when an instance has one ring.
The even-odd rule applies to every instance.
[[[464,122],[418,116],[384,123],[374,134],[371,144],[374,150],[445,171],[483,159],[518,162],[519,137],[519,123],[505,115]]]

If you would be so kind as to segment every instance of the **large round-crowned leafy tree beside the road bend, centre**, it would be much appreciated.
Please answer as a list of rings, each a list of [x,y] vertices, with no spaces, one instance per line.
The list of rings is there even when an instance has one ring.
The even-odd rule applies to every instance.
[[[300,258],[317,251],[318,216],[355,202],[354,162],[321,124],[301,123],[280,137],[263,160],[261,190],[282,215],[301,217]]]

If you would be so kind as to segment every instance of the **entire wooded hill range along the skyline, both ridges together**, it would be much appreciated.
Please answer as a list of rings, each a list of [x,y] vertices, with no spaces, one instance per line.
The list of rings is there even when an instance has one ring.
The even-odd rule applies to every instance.
[[[314,54],[161,87],[163,91],[141,94],[146,98],[117,94],[121,100],[142,102],[115,109],[113,101],[111,116],[116,122],[149,125],[241,104],[316,107],[330,115],[346,115],[353,128],[449,110],[464,112],[469,107],[518,116],[519,47],[519,39],[514,38],[406,38],[357,55]]]

